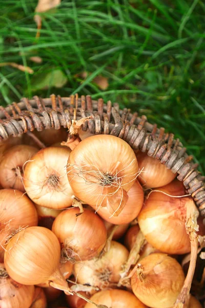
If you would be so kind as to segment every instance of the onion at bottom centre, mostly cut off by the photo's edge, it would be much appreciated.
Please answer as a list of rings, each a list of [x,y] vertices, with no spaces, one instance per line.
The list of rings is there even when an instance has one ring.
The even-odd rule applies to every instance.
[[[112,308],[147,308],[132,293],[117,289],[97,292],[90,300],[96,304],[103,304]],[[96,306],[87,303],[85,308],[96,308]]]

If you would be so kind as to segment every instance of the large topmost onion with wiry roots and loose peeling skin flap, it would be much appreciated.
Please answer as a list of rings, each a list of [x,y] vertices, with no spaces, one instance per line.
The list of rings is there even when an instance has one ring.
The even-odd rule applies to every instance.
[[[107,206],[117,216],[138,172],[135,153],[127,142],[111,135],[81,141],[68,159],[68,180],[76,197],[96,210]]]

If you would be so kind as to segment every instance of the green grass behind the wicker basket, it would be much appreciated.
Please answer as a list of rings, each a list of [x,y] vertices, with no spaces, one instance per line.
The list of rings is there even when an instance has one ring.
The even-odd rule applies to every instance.
[[[1,67],[0,104],[51,93],[110,99],[173,132],[205,174],[204,2],[64,0],[44,13],[38,39],[36,3],[0,0],[0,62],[34,71]],[[106,90],[97,75],[108,78]]]

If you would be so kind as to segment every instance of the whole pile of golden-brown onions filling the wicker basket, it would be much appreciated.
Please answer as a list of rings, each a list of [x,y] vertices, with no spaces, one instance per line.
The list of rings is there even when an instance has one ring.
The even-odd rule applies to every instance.
[[[80,125],[0,144],[0,306],[172,308],[193,199],[147,153]]]

